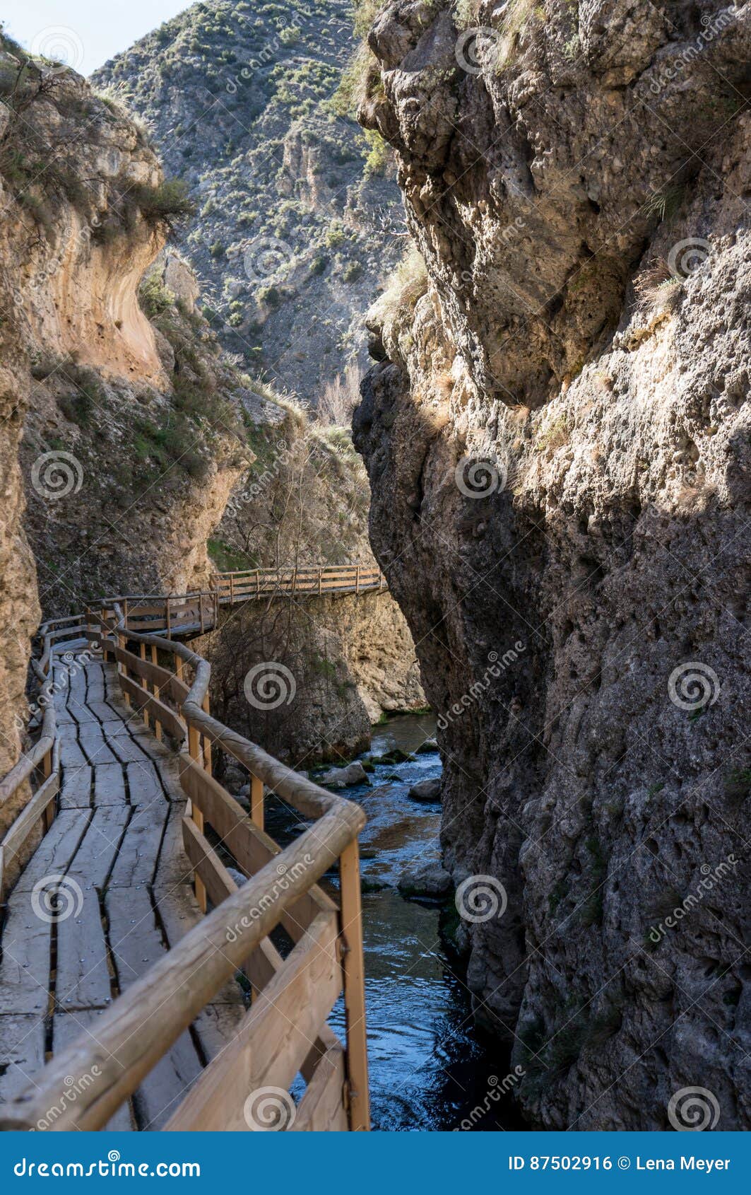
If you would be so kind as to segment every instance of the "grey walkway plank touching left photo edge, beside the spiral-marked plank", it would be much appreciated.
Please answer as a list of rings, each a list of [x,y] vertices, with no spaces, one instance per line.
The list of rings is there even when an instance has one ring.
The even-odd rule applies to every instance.
[[[31,907],[31,894],[14,890],[2,930],[0,1015],[45,1015],[49,1004],[51,924]]]

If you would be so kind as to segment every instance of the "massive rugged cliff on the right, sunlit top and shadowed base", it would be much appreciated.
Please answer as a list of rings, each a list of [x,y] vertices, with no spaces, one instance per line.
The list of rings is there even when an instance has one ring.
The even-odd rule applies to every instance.
[[[368,39],[426,265],[370,317],[371,540],[486,888],[476,1012],[552,1128],[675,1127],[691,1086],[751,1117],[750,7],[395,4]]]

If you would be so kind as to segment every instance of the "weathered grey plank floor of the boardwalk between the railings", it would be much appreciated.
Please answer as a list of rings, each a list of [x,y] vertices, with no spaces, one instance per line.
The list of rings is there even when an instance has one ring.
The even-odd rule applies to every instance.
[[[170,749],[121,695],[115,664],[55,664],[59,813],[11,891],[0,934],[0,1114],[202,919]],[[232,982],[107,1126],[155,1129],[238,1031]]]

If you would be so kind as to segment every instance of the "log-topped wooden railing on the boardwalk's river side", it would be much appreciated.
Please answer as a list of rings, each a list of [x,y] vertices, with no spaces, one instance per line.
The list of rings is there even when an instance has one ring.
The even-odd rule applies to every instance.
[[[195,596],[183,599],[185,608]],[[180,783],[189,798],[183,819],[185,853],[202,909],[207,912],[209,902],[214,907],[98,1018],[96,1040],[84,1035],[55,1055],[27,1092],[4,1108],[5,1127],[31,1128],[60,1103],[70,1076],[85,1076],[86,1085],[80,1085],[75,1103],[67,1105],[51,1127],[103,1128],[201,1010],[242,969],[253,1003],[240,1031],[207,1066],[166,1128],[248,1129],[253,1127],[244,1111],[248,1096],[265,1087],[288,1091],[301,1072],[307,1086],[289,1128],[367,1130],[357,845],[365,816],[353,802],[319,788],[213,718],[208,661],[164,633],[136,631],[121,601],[124,606],[124,599],[107,599],[96,611],[87,611],[86,639],[117,661],[125,701],[156,737],[166,734],[176,742]],[[131,609],[138,608],[138,618],[140,601],[128,599]],[[158,615],[148,617],[154,631],[167,630],[166,619],[158,626]],[[49,670],[55,636],[66,633],[62,621],[47,625],[41,664],[45,678],[44,660]],[[76,630],[81,629],[78,620]],[[131,644],[137,644],[137,652]],[[186,666],[192,670],[190,685]],[[49,756],[50,724],[44,729],[47,739],[39,740],[29,759]],[[213,752],[224,752],[247,768],[250,816],[211,774]],[[19,774],[27,777],[33,766],[19,765]],[[315,820],[283,851],[264,832],[266,795],[281,797]],[[241,888],[207,838],[209,828],[248,877]],[[338,906],[318,887],[337,863]],[[279,925],[294,943],[285,958],[269,939]],[[340,993],[344,1044],[326,1024]]]

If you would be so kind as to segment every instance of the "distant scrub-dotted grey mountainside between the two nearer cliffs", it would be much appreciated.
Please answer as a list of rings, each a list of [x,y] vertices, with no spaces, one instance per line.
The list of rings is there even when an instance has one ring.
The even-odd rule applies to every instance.
[[[400,245],[382,238],[400,222],[384,143],[336,98],[351,54],[345,0],[208,0],[94,76],[148,121],[196,198],[186,252],[223,344],[314,406],[362,357],[363,313]]]

